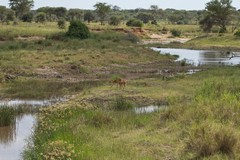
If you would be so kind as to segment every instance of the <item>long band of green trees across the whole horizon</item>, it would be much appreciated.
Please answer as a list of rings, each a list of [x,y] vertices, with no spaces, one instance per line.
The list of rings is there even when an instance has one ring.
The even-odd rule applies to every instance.
[[[138,27],[147,23],[157,25],[161,21],[168,24],[199,24],[205,32],[218,28],[222,33],[227,32],[228,25],[231,25],[234,31],[240,24],[240,11],[232,6],[232,0],[211,0],[204,10],[163,10],[157,5],[151,5],[148,9],[124,10],[101,2],[94,5],[94,10],[67,10],[65,7],[41,7],[32,10],[33,6],[33,0],[9,0],[9,8],[0,6],[0,21],[8,23],[21,20],[44,23],[80,20],[116,26],[127,22],[129,26]]]

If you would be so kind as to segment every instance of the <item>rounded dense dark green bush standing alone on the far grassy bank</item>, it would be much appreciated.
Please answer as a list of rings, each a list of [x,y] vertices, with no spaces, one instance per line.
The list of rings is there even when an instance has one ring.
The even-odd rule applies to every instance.
[[[90,37],[90,32],[88,27],[81,21],[71,21],[66,34],[68,37],[86,39]]]

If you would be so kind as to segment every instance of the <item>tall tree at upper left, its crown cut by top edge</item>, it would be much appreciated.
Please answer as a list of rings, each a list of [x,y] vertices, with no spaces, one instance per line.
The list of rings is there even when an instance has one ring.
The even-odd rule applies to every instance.
[[[9,7],[15,11],[17,18],[22,18],[34,6],[33,0],[9,0]]]

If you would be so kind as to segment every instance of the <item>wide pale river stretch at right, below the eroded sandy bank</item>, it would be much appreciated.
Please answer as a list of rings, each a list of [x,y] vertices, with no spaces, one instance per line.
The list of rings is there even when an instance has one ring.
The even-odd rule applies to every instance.
[[[186,60],[193,65],[238,65],[240,52],[223,52],[209,50],[190,50],[174,48],[152,48],[161,54],[178,55],[177,61]]]

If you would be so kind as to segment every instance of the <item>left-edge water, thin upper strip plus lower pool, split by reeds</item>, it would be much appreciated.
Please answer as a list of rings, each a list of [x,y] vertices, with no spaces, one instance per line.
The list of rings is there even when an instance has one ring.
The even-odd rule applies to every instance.
[[[65,99],[52,100],[9,100],[0,101],[1,106],[27,105],[33,107],[49,106]],[[0,127],[0,160],[19,160],[26,140],[33,132],[36,118],[33,114],[18,115],[11,126]]]

